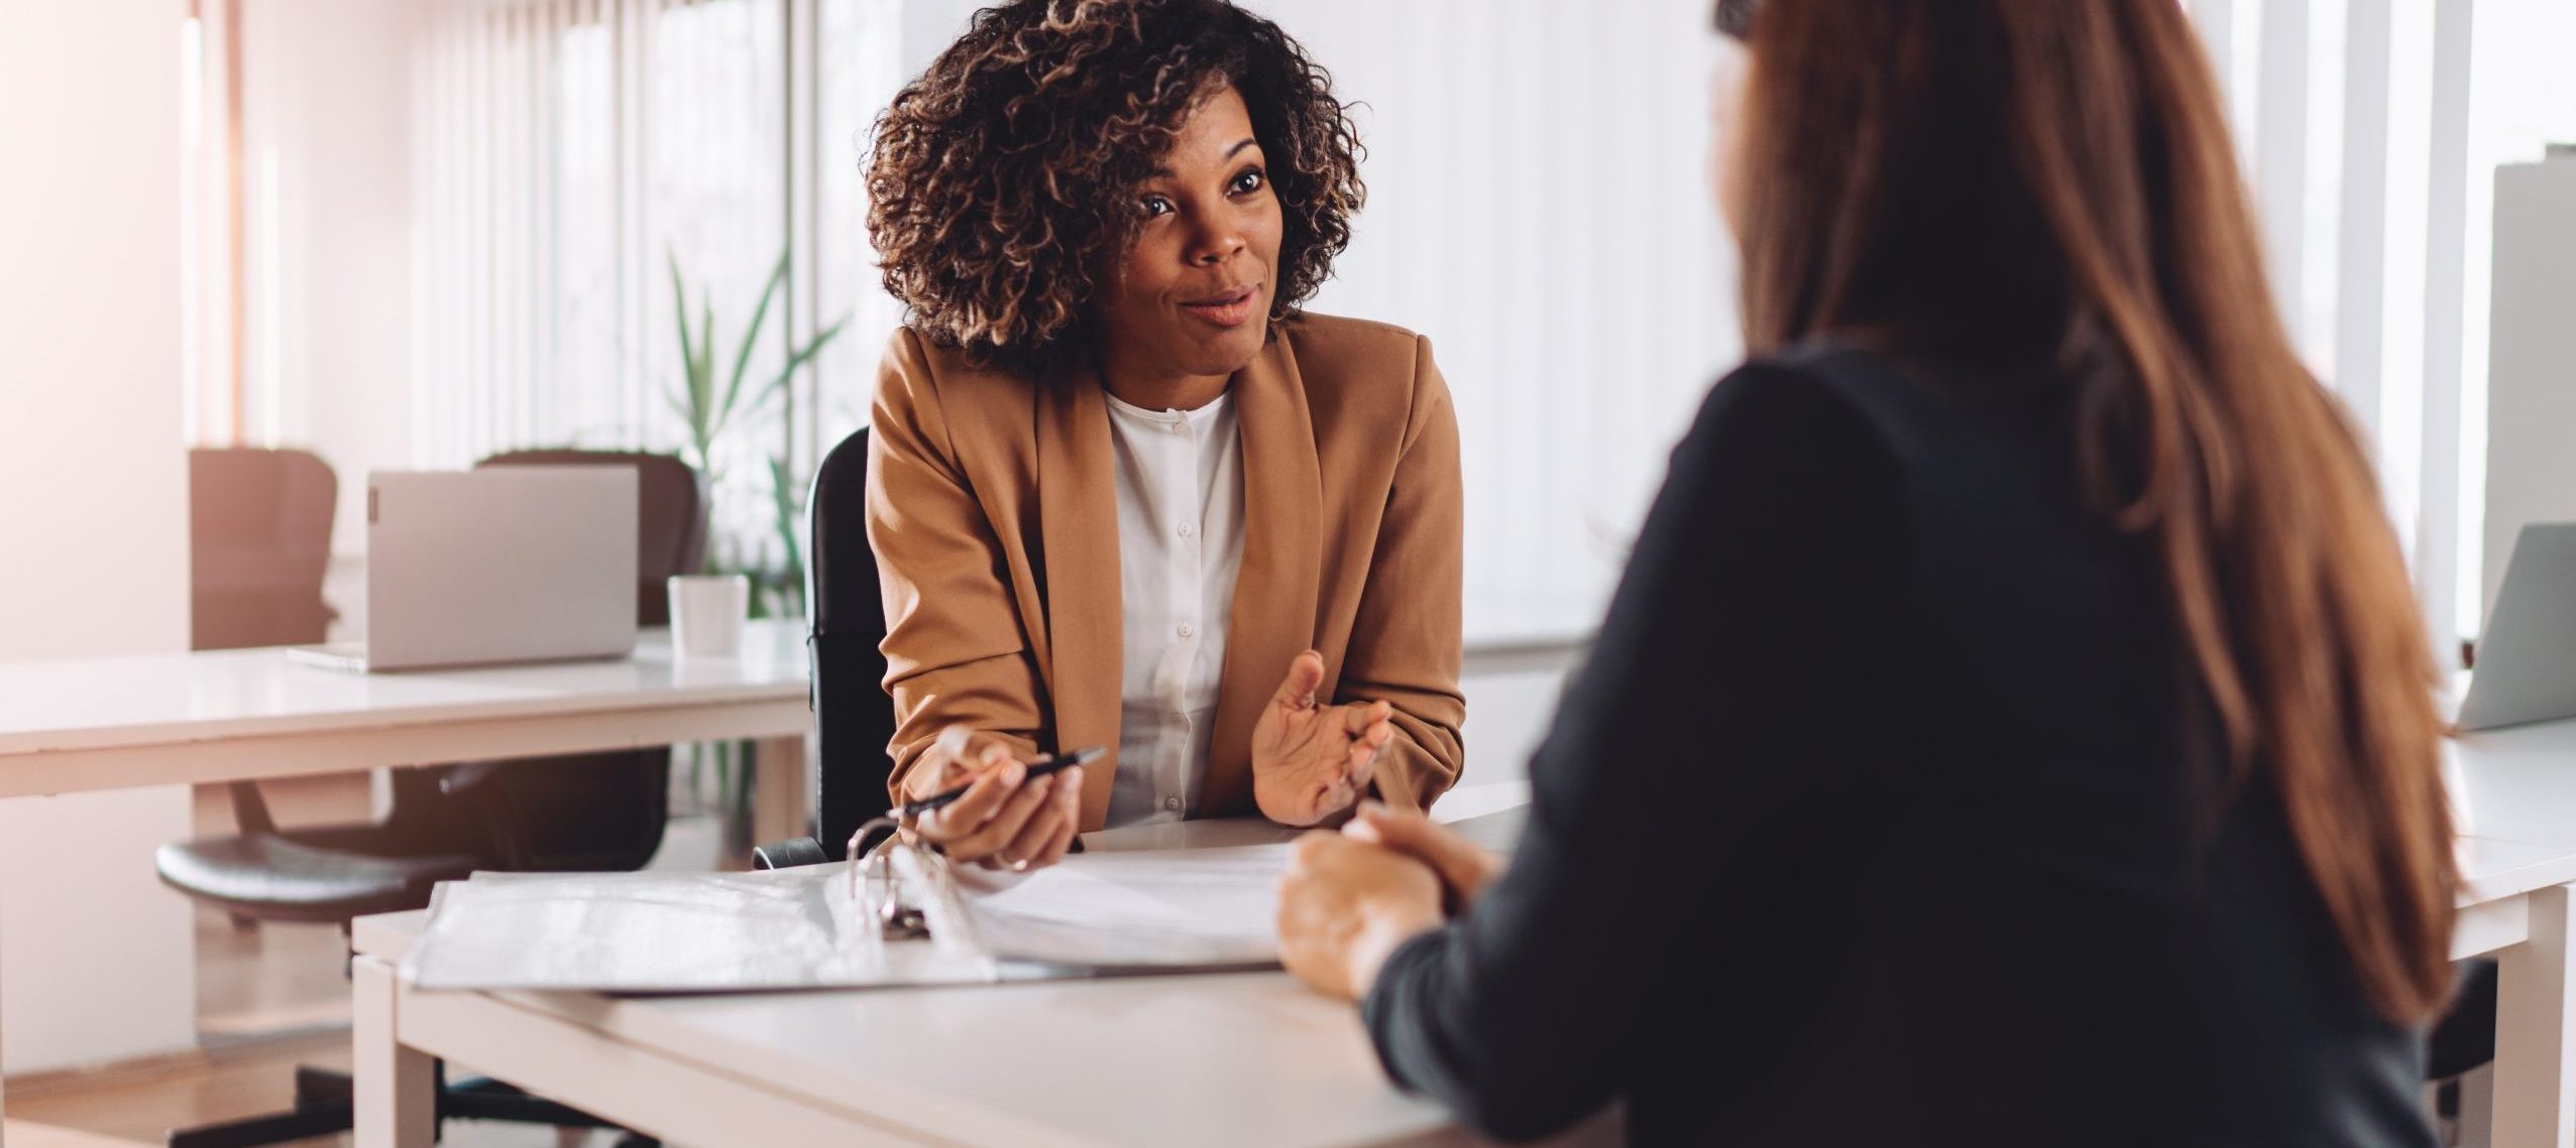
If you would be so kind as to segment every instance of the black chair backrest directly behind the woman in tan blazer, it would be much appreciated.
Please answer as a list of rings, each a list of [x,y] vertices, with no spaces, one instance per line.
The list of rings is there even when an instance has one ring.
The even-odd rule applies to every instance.
[[[814,672],[814,837],[840,860],[850,834],[886,813],[894,698],[886,698],[886,600],[868,546],[868,430],[814,468],[806,499],[806,656]]]

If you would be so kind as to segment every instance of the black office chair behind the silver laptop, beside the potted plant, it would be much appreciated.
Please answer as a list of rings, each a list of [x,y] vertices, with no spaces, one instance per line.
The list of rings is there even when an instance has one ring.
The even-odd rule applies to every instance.
[[[482,466],[634,466],[639,471],[636,623],[665,625],[665,579],[706,553],[706,484],[670,456],[526,450]],[[327,502],[327,499],[325,499]],[[325,517],[327,530],[327,517]],[[327,548],[327,541],[325,541]],[[314,579],[319,597],[319,579]],[[670,746],[533,762],[466,762],[392,772],[376,824],[278,829],[255,782],[234,782],[237,834],[165,844],[162,883],[250,921],[348,921],[422,909],[440,880],[474,870],[634,870],[662,847]],[[446,1081],[438,1120],[613,1127],[497,1081]],[[173,1148],[247,1148],[350,1130],[345,1073],[296,1068],[291,1112],[173,1130]],[[629,1145],[652,1140],[629,1135]]]

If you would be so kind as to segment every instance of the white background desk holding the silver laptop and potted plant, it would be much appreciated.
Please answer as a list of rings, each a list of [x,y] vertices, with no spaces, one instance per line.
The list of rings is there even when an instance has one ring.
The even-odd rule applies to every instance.
[[[762,839],[804,834],[804,623],[739,659],[353,674],[278,649],[0,664],[0,798],[757,739]],[[5,906],[0,906],[5,911]]]

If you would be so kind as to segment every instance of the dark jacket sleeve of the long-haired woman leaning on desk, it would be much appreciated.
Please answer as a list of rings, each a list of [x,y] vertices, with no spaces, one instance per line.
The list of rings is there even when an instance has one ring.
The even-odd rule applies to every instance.
[[[1826,384],[1710,391],[1530,762],[1510,873],[1363,1004],[1388,1076],[1528,1140],[1669,1055],[1641,1040],[1659,1009],[1726,986],[1878,767],[1826,731],[1888,662],[1901,551],[1893,461]]]

